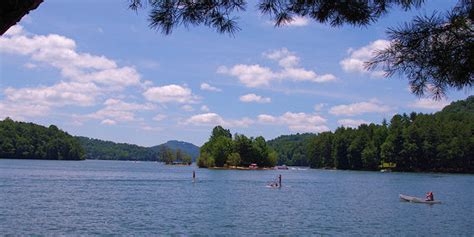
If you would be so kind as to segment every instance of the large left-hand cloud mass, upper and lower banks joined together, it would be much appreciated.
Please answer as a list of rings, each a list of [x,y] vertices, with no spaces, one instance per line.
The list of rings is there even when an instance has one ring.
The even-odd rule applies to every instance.
[[[120,67],[112,59],[78,52],[76,48],[76,42],[65,36],[37,35],[19,25],[11,27],[0,37],[0,55],[28,57],[31,62],[24,65],[26,68],[56,68],[63,80],[53,85],[4,89],[0,113],[11,117],[46,116],[54,107],[96,105],[99,96],[140,85],[140,75],[133,67]]]

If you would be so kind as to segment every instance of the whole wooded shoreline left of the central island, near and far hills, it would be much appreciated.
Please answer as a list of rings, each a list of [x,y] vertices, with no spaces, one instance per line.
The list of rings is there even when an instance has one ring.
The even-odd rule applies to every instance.
[[[0,158],[40,160],[135,160],[192,163],[180,148],[166,145],[142,147],[126,143],[74,137],[55,125],[0,121]]]

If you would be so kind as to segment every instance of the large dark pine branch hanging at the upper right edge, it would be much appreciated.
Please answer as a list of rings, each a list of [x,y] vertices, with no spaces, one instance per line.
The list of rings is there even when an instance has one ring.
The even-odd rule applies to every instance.
[[[449,13],[418,16],[388,30],[389,47],[367,64],[387,76],[404,74],[416,95],[435,98],[448,88],[461,90],[474,84],[474,9],[461,0]]]

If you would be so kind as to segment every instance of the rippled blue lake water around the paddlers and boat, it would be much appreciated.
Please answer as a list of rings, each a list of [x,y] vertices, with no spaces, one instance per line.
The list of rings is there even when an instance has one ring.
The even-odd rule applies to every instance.
[[[267,188],[278,174],[283,187]],[[473,184],[454,174],[0,160],[0,234],[472,236]],[[398,198],[427,191],[443,203]]]

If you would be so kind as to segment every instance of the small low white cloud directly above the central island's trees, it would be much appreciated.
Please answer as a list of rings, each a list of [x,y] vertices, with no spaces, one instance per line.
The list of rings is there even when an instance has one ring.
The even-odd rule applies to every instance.
[[[222,125],[226,127],[248,127],[253,124],[254,121],[249,118],[242,118],[239,120],[224,120],[220,115],[216,113],[204,113],[197,114],[188,118],[185,125],[195,126],[216,126]]]

